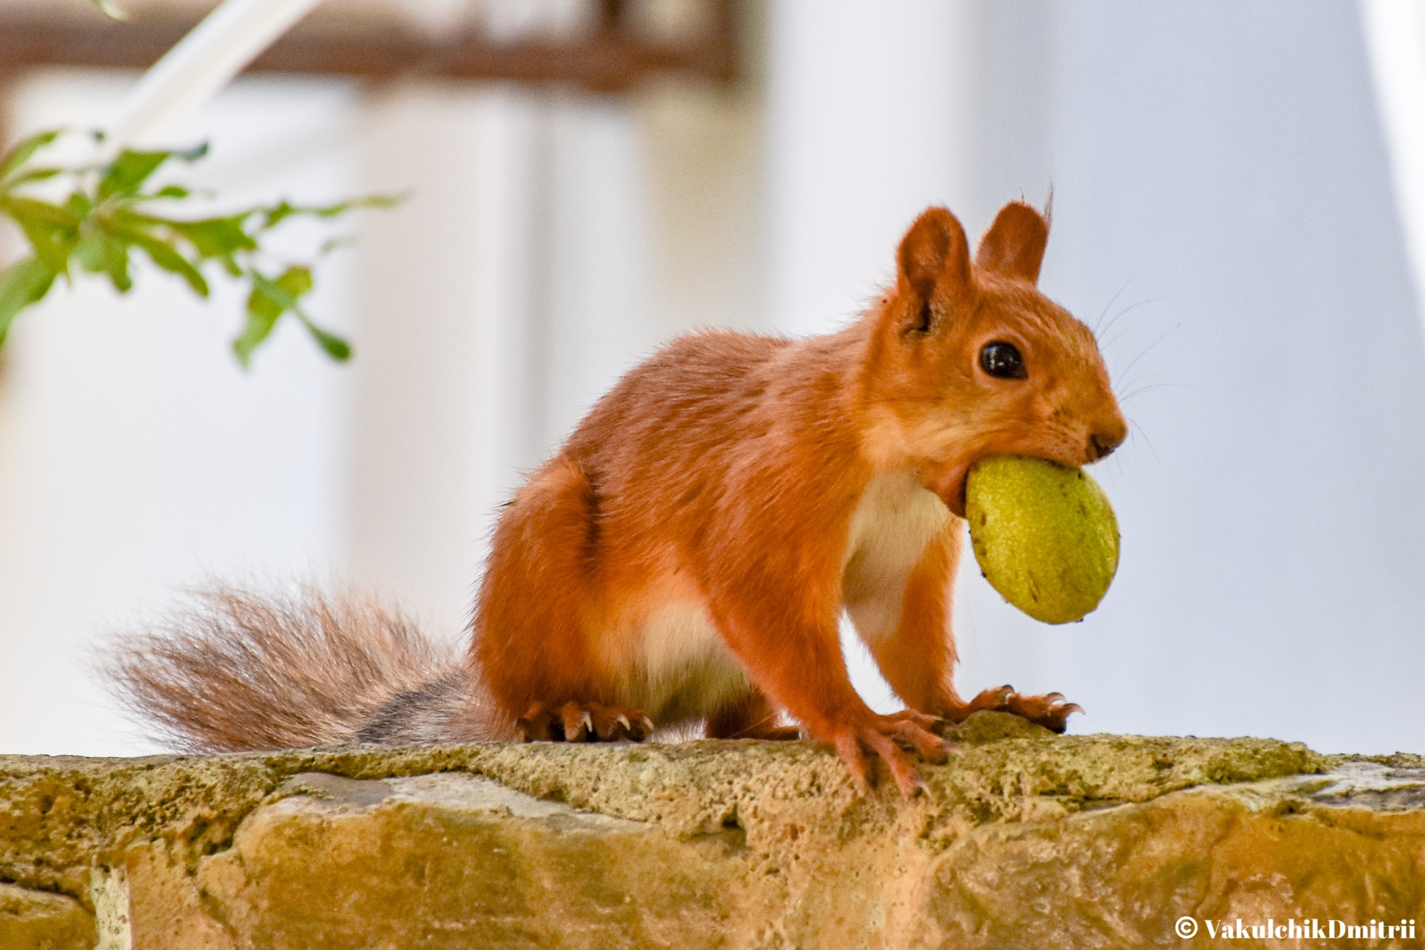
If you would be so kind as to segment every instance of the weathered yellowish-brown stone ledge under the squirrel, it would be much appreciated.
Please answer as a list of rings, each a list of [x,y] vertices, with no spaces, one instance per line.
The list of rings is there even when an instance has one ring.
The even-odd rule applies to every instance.
[[[0,947],[1278,946],[1183,940],[1184,916],[1425,936],[1419,756],[999,714],[960,739],[911,802],[801,742],[0,756]]]

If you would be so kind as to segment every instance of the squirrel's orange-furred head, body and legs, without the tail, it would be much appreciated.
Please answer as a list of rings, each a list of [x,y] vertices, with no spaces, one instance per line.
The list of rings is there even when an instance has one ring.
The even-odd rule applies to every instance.
[[[771,702],[862,779],[862,751],[881,755],[903,790],[916,779],[898,743],[933,756],[929,716],[1009,708],[1062,729],[1073,708],[1053,696],[966,704],[950,677],[968,469],[992,453],[1079,466],[1126,433],[1093,336],[1035,288],[1046,239],[1015,202],[972,263],[932,208],[895,286],[848,329],[688,336],[624,376],[496,531],[472,659],[502,715],[638,706],[731,735]],[[979,369],[990,340],[1019,348],[1027,379]],[[925,716],[879,716],[855,694],[844,607]]]

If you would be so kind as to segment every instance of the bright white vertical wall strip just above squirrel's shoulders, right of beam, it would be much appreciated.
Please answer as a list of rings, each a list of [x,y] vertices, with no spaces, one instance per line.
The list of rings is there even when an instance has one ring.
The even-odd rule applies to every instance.
[[[965,4],[770,6],[768,312],[824,333],[893,276],[929,204],[975,194],[973,24]]]

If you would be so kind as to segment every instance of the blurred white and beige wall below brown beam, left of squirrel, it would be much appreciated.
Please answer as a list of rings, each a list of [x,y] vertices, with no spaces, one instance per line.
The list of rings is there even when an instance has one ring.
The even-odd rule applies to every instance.
[[[101,122],[128,81],[28,77],[11,131]],[[147,751],[83,665],[208,575],[351,578],[460,635],[522,474],[668,336],[761,325],[755,88],[245,78],[174,137],[211,138],[192,179],[234,202],[410,199],[342,228],[358,246],[318,271],[311,309],[351,336],[345,367],[289,328],[244,375],[241,299],[197,303],[148,271],[123,302],[81,285],[20,318],[0,692],[53,712],[0,718],[7,752]]]

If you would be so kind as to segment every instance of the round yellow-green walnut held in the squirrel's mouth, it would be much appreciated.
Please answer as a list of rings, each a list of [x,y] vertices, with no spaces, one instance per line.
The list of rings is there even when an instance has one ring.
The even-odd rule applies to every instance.
[[[985,578],[1046,624],[1083,618],[1119,570],[1119,521],[1082,469],[989,456],[965,483],[965,517]]]

